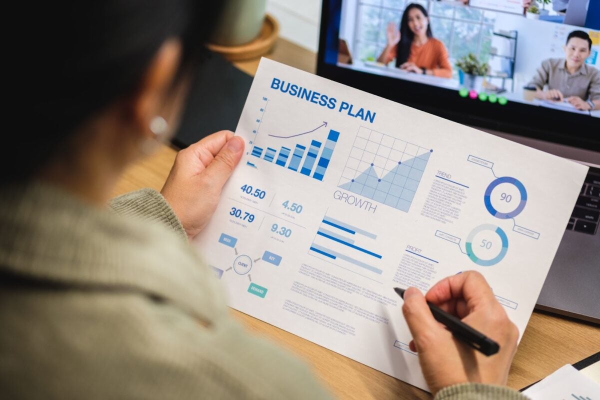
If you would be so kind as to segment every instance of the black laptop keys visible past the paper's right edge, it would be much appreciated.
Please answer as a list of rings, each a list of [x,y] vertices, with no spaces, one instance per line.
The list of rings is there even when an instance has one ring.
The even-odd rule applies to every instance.
[[[600,219],[600,169],[590,167],[566,225],[567,230],[596,234]]]

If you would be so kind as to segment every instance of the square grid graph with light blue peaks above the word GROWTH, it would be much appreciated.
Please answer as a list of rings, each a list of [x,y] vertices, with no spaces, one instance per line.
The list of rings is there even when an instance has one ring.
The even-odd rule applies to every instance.
[[[338,187],[407,212],[432,152],[361,127]]]

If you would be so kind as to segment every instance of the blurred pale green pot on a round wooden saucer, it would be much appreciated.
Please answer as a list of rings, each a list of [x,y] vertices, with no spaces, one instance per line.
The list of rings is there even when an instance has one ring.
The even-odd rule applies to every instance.
[[[208,48],[229,61],[268,53],[277,40],[279,24],[265,9],[266,0],[228,0]]]

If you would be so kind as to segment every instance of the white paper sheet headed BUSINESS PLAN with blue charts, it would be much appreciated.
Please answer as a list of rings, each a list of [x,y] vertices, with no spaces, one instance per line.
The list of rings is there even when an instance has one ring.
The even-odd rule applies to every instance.
[[[393,288],[477,270],[522,335],[587,173],[268,59],[236,135],[195,240],[230,306],[422,389]]]

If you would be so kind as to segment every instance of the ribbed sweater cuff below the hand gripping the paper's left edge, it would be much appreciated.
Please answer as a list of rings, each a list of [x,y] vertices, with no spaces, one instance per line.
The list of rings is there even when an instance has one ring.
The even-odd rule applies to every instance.
[[[175,231],[182,239],[187,240],[185,230],[175,212],[164,199],[163,195],[154,189],[140,189],[116,197],[109,204],[110,208],[119,215],[159,222]]]

